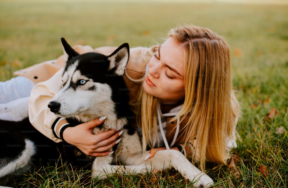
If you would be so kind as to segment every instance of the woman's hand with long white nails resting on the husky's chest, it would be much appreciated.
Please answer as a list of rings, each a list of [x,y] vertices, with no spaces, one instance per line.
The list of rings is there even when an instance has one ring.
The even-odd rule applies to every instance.
[[[100,119],[100,120],[99,120]],[[106,156],[109,149],[120,141],[116,140],[122,131],[111,129],[99,134],[92,134],[92,129],[104,122],[105,118],[94,119],[74,127],[68,127],[63,131],[64,140],[79,148],[84,154],[90,156]],[[118,143],[117,142],[117,143]]]

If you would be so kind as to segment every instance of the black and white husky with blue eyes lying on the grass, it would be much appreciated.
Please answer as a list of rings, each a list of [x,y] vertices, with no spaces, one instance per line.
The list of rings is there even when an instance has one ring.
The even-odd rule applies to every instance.
[[[58,116],[66,118],[70,126],[77,126],[82,122],[107,116],[102,125],[93,129],[94,134],[109,129],[123,130],[120,136],[121,141],[112,148],[115,152],[103,157],[87,156],[76,147],[64,144],[63,152],[72,162],[79,158],[83,161],[91,161],[91,176],[98,179],[107,178],[113,173],[143,174],[153,170],[175,168],[181,172],[185,179],[194,182],[195,187],[209,187],[213,184],[213,180],[192,165],[180,151],[160,150],[156,152],[154,157],[145,159],[149,151],[143,152],[142,147],[146,146],[142,146],[138,131],[127,126],[128,117],[133,115],[128,106],[128,89],[123,78],[129,59],[129,45],[127,43],[122,44],[111,55],[106,56],[94,52],[79,55],[64,38],[61,41],[67,63],[62,74],[62,88],[48,104],[50,110]],[[6,126],[2,126],[3,123]],[[9,132],[12,136],[20,134],[14,131],[19,122],[16,122],[15,126],[7,126],[10,122],[3,123],[0,125],[1,133],[7,131],[6,133]],[[29,130],[37,132],[31,124],[28,125],[28,122],[25,126],[30,127]],[[38,148],[35,143],[39,142],[34,140],[40,140],[41,143],[41,139],[45,139],[44,137],[40,134],[37,139],[31,138],[31,135],[15,138],[15,140],[10,139],[10,141],[13,140],[14,144],[20,143],[22,149],[15,151],[11,160],[7,159],[10,154],[3,153],[0,155],[0,177],[14,172],[23,173],[31,168],[34,165],[31,158],[38,156]],[[3,146],[1,145],[2,151],[3,149],[7,151],[5,148],[8,146],[6,139],[3,139],[2,142],[4,142]],[[58,146],[53,143],[51,145],[54,148]],[[25,152],[29,155],[24,156]],[[10,169],[9,172],[7,171],[8,173],[4,170],[7,168]]]

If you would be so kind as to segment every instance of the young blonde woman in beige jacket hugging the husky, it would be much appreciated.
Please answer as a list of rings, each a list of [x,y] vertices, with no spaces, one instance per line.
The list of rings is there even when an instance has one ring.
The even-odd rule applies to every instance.
[[[74,49],[109,54],[116,47]],[[65,118],[47,107],[62,84],[64,64],[61,56],[17,72],[37,83],[31,91],[29,119],[55,142],[65,140],[87,155],[105,156],[121,134],[117,130],[92,134],[105,117],[64,129]],[[206,160],[226,164],[228,152],[236,146],[240,110],[232,91],[230,51],[222,37],[197,26],[172,29],[159,46],[130,48],[124,78],[137,118],[130,126],[139,127],[143,145],[153,148],[147,158],[160,149],[177,149],[193,162],[200,161],[202,170]]]

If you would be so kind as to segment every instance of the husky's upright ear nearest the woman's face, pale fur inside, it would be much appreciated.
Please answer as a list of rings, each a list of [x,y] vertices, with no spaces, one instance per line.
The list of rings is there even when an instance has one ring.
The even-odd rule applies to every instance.
[[[129,45],[128,43],[122,44],[111,55],[107,57],[110,61],[109,70],[113,70],[115,74],[123,76],[125,68],[129,60]]]

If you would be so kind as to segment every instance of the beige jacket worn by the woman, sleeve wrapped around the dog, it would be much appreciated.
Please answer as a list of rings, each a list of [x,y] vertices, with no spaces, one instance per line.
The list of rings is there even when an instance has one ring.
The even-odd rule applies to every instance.
[[[78,53],[86,52],[98,52],[103,54],[112,53],[117,47],[99,47],[92,49],[90,46],[76,45],[73,47]],[[149,59],[154,53],[156,53],[157,47],[145,48],[135,47],[130,48],[130,58],[126,67],[126,73],[124,79],[127,87],[129,88],[130,101],[133,101],[137,97],[137,92],[141,86],[141,82],[135,82],[137,79],[141,79],[145,75],[145,69]],[[55,137],[52,131],[52,124],[58,118],[58,116],[50,111],[48,103],[52,97],[60,90],[62,84],[62,72],[64,70],[65,61],[64,56],[60,56],[55,61],[43,62],[33,65],[31,67],[19,70],[15,72],[16,75],[25,76],[36,83],[35,87],[31,91],[31,97],[29,101],[29,120],[31,124],[43,135],[50,138],[55,142],[61,142],[62,140]],[[133,81],[132,81],[133,80]],[[166,122],[169,122],[171,118],[167,118]],[[59,122],[61,124],[67,123],[66,120]],[[173,122],[172,122],[173,123]],[[175,135],[174,127],[177,123],[166,123],[166,139],[170,145]],[[180,124],[179,130],[182,130],[186,121],[183,120]],[[236,124],[235,124],[236,126]],[[169,133],[169,134],[168,134]],[[181,131],[179,132],[181,135]],[[181,145],[181,137],[177,137],[175,144]],[[233,138],[236,140],[236,138]],[[192,146],[184,148],[183,153],[185,155],[192,154]]]

